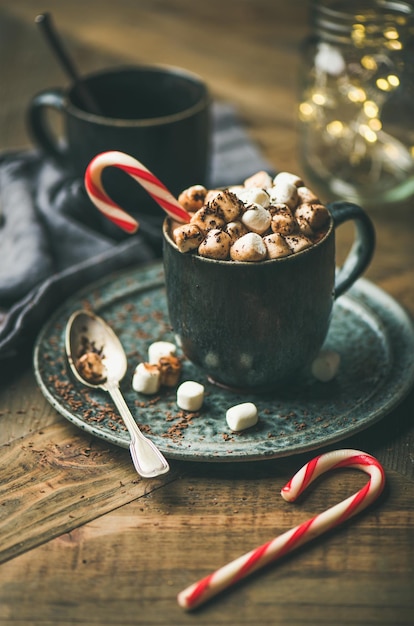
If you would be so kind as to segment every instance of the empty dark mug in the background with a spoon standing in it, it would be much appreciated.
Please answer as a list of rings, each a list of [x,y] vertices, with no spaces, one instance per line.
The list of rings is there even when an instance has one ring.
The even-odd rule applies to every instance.
[[[210,96],[204,81],[169,66],[121,67],[91,74],[83,84],[100,113],[85,109],[76,86],[36,95],[28,110],[37,146],[83,178],[91,159],[105,151],[126,152],[145,163],[174,194],[194,180],[205,184],[210,154]],[[61,144],[48,112],[64,118]],[[105,188],[127,211],[164,214],[148,194],[115,168],[104,174]],[[115,232],[115,231],[114,231]]]

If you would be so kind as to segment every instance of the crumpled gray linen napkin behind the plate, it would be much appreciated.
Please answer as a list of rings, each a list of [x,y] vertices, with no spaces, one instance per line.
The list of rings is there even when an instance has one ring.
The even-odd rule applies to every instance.
[[[231,105],[213,107],[211,187],[271,171]],[[157,207],[156,207],[157,209]],[[30,345],[52,311],[84,285],[161,256],[161,209],[123,239],[102,229],[83,181],[36,151],[0,156],[0,360]]]

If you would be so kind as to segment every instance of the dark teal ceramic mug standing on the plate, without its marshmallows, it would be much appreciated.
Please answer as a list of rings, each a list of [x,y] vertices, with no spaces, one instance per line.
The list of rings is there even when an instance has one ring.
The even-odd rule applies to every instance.
[[[357,205],[328,205],[326,235],[310,248],[259,263],[181,253],[164,222],[170,322],[190,361],[223,386],[271,390],[310,365],[327,335],[335,298],[368,266],[375,247]],[[353,220],[354,244],[335,277],[335,229]]]

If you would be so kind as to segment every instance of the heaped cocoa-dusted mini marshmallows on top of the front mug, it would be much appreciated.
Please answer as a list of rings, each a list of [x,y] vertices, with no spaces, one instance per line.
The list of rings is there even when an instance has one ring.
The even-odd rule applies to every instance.
[[[286,257],[318,241],[329,223],[327,208],[290,172],[257,172],[224,190],[194,185],[178,201],[191,214],[172,229],[178,249],[217,260]]]

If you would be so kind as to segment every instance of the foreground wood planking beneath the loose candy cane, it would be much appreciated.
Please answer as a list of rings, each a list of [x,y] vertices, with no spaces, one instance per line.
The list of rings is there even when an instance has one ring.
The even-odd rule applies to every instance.
[[[279,496],[295,464],[188,464],[162,489],[0,566],[0,620],[13,625],[407,625],[414,610],[414,485],[388,472],[371,509],[246,579],[194,614],[176,594],[353,493],[355,471]],[[22,589],[25,593],[22,594]],[[87,593],[85,593],[87,589]]]

